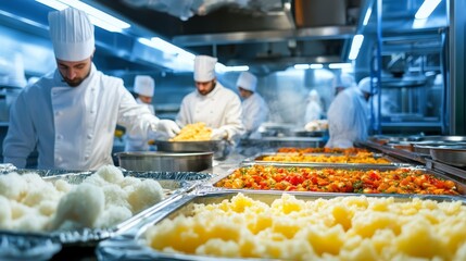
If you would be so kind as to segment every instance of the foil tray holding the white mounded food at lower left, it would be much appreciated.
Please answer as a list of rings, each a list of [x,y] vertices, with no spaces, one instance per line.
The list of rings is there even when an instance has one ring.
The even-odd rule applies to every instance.
[[[16,172],[18,174],[25,173],[37,173],[42,176],[46,181],[64,179],[70,184],[80,184],[86,177],[92,175],[95,172],[85,171],[55,171],[55,170],[3,170],[0,166],[0,175],[9,172]],[[116,226],[109,228],[84,228],[76,231],[60,231],[60,232],[48,232],[48,233],[24,233],[24,232],[12,232],[1,231],[1,235],[14,235],[16,237],[23,237],[25,240],[33,237],[49,238],[53,243],[63,244],[66,246],[96,246],[99,240],[119,234],[126,229],[129,229],[135,224],[141,222],[147,216],[152,215],[164,204],[169,203],[176,197],[188,192],[199,186],[202,182],[210,179],[211,174],[197,173],[197,172],[135,172],[135,171],[122,171],[124,176],[134,176],[138,178],[151,178],[160,183],[165,192],[165,199],[158,204],[141,211],[133,217],[117,224]],[[1,248],[0,248],[1,254]],[[1,256],[0,256],[1,257]]]

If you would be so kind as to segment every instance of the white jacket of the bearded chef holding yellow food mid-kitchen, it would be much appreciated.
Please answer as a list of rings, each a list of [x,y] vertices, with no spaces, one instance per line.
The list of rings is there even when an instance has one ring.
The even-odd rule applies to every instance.
[[[204,122],[207,127],[225,129],[231,140],[244,134],[241,113],[238,95],[217,82],[206,96],[200,95],[198,90],[187,95],[181,101],[176,123],[184,127],[187,124]]]

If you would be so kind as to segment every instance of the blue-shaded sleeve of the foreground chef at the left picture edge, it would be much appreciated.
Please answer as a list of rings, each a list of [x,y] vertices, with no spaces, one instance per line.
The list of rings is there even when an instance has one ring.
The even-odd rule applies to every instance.
[[[24,95],[20,95],[10,110],[10,123],[3,140],[3,162],[25,167],[29,153],[36,147],[36,130],[27,110]]]

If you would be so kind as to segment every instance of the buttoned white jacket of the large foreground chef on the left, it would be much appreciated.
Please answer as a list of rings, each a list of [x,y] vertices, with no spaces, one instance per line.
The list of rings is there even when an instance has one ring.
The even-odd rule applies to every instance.
[[[10,112],[4,162],[26,165],[37,146],[38,169],[96,170],[113,164],[116,124],[147,135],[159,119],[136,103],[119,78],[91,65],[89,76],[68,87],[58,70],[26,87]]]

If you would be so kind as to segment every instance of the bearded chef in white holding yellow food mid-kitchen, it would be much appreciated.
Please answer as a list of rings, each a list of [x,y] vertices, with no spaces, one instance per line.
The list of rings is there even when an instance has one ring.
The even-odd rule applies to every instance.
[[[203,122],[213,128],[211,139],[234,139],[244,134],[241,121],[241,100],[232,90],[217,82],[217,59],[198,55],[194,59],[194,83],[197,90],[187,95],[179,109],[176,122],[187,124]]]

